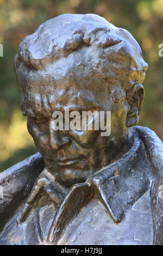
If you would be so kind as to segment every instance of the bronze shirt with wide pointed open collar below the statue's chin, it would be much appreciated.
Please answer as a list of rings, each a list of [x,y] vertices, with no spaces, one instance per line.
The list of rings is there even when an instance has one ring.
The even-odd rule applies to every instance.
[[[128,153],[69,191],[44,168],[28,198],[5,221],[0,244],[162,244],[162,142],[147,128],[135,126],[133,132]],[[33,198],[40,180],[48,188],[38,190]],[[3,211],[12,205],[7,199],[4,196],[0,204]]]

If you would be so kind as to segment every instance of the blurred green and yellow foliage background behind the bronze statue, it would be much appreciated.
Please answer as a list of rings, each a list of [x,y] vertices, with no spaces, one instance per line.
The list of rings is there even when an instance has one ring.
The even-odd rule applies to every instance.
[[[126,28],[142,47],[149,64],[139,125],[154,130],[163,141],[163,0],[0,0],[0,172],[36,152],[20,111],[20,91],[12,61],[24,36],[64,13],[95,13]]]

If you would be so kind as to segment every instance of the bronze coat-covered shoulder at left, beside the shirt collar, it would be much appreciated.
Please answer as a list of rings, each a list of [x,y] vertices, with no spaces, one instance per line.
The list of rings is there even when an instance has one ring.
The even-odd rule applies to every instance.
[[[0,173],[0,231],[28,196],[43,168],[42,156],[36,153]]]

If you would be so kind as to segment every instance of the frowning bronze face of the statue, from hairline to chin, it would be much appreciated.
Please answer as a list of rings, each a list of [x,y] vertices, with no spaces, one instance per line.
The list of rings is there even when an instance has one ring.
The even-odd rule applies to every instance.
[[[61,60],[62,61],[62,60]],[[120,84],[105,84],[85,71],[57,63],[28,75],[27,127],[48,170],[64,185],[84,182],[122,153],[128,141],[129,104]],[[112,93],[118,100],[113,99]],[[54,111],[111,111],[111,134],[96,130],[58,130]],[[29,111],[30,109],[30,111]]]

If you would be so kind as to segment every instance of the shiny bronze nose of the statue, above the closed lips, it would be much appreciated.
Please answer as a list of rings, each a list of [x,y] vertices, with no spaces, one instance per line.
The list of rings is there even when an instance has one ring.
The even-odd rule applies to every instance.
[[[64,130],[54,130],[54,119],[50,119],[49,121],[49,143],[53,150],[57,150],[71,143],[71,138],[65,135]]]

